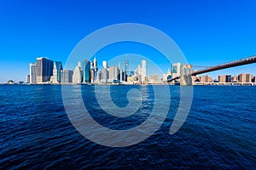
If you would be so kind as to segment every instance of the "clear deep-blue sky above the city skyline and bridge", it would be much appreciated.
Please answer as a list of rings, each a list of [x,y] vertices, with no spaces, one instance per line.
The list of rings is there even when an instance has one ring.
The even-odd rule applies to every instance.
[[[37,57],[65,63],[75,45],[92,31],[127,22],[164,31],[192,65],[241,59],[256,54],[255,8],[255,0],[2,0],[0,82],[25,81],[28,65]],[[256,75],[255,66],[210,75]],[[164,70],[167,68],[163,65]]]

